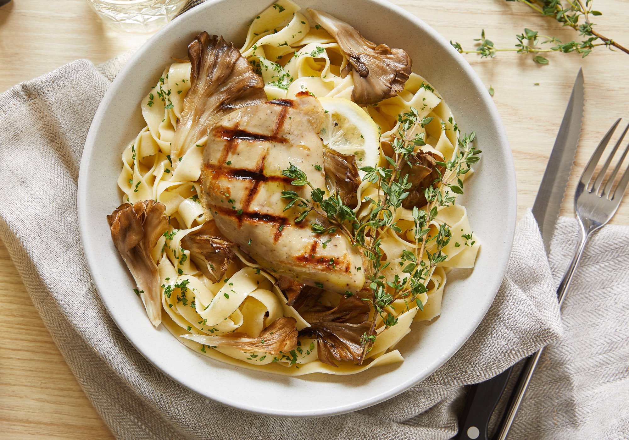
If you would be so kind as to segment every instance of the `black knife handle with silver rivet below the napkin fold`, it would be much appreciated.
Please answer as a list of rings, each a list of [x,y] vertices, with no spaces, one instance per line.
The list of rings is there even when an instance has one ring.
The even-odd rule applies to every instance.
[[[472,385],[467,392],[465,407],[459,419],[457,440],[489,440],[489,419],[503,394],[513,366],[498,376]]]

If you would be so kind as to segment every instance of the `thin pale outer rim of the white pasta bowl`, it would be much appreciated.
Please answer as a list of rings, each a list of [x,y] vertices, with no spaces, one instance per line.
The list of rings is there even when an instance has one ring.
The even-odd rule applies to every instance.
[[[416,385],[417,383],[420,383],[421,381],[425,380],[432,373],[437,371],[438,368],[440,368],[445,362],[447,362],[450,358],[452,358],[452,356],[454,356],[454,354],[457,353],[457,351],[459,351],[459,349],[463,346],[463,344],[467,341],[467,339],[469,339],[469,337],[474,333],[474,331],[476,331],[482,319],[484,319],[484,317],[486,316],[487,311],[489,310],[489,307],[491,307],[491,304],[493,304],[495,296],[498,293],[503,276],[496,277],[493,283],[491,283],[489,287],[487,287],[487,289],[493,292],[493,294],[487,294],[484,296],[485,301],[486,301],[486,304],[483,305],[484,312],[482,314],[479,314],[476,317],[476,319],[474,319],[474,321],[470,324],[469,333],[467,332],[460,333],[459,338],[456,339],[455,341],[452,341],[453,343],[450,346],[450,349],[446,355],[443,355],[440,358],[437,358],[433,360],[431,363],[429,363],[430,366],[426,368],[428,373],[420,373],[419,375],[416,375],[415,377],[409,377],[406,380],[399,382],[396,387],[388,388],[386,392],[381,392],[376,395],[371,395],[369,398],[366,398],[357,402],[353,402],[352,404],[338,405],[332,408],[318,409],[318,410],[269,409],[267,407],[254,406],[254,405],[250,405],[248,403],[242,403],[242,402],[238,402],[237,404],[233,402],[233,400],[230,400],[229,398],[226,398],[222,395],[210,396],[210,395],[206,395],[205,393],[199,392],[198,387],[195,387],[194,383],[191,380],[185,380],[186,379],[185,377],[176,377],[172,371],[169,371],[169,369],[166,368],[165,365],[162,365],[160,363],[159,359],[148,357],[142,351],[142,349],[138,348],[138,346],[136,345],[133,339],[133,335],[127,334],[125,331],[123,331],[123,326],[121,326],[120,323],[118,322],[118,319],[116,319],[116,314],[112,313],[108,305],[108,302],[106,301],[104,294],[102,293],[103,289],[101,289],[101,287],[99,287],[98,283],[96,282],[98,278],[96,277],[97,258],[94,258],[94,255],[92,255],[92,251],[90,250],[89,246],[87,246],[86,244],[87,242],[86,238],[89,235],[89,231],[87,230],[88,211],[87,211],[87,191],[86,191],[87,185],[86,183],[87,183],[87,180],[89,179],[89,175],[87,171],[87,168],[88,168],[87,163],[90,162],[92,152],[93,152],[93,146],[95,145],[95,141],[96,141],[96,132],[98,129],[97,122],[103,118],[104,114],[107,111],[107,108],[109,107],[109,104],[111,104],[111,102],[113,101],[113,97],[116,96],[116,94],[120,91],[121,84],[122,84],[121,78],[125,77],[127,72],[135,68],[134,67],[135,60],[140,58],[143,54],[149,51],[149,48],[152,47],[153,45],[153,41],[159,40],[160,38],[164,38],[164,36],[166,36],[170,32],[170,30],[179,26],[178,23],[180,22],[182,17],[191,16],[192,14],[203,13],[204,9],[213,8],[215,4],[223,3],[225,1],[229,1],[229,0],[209,0],[204,3],[201,3],[198,6],[195,6],[194,8],[191,8],[187,10],[186,12],[182,13],[181,16],[175,18],[166,26],[164,26],[164,28],[157,31],[155,35],[149,38],[142,45],[142,47],[140,47],[137,50],[137,52],[133,54],[133,56],[126,62],[125,66],[120,70],[118,75],[116,75],[116,78],[113,80],[113,82],[109,86],[108,91],[104,94],[103,100],[99,104],[99,107],[96,113],[94,114],[94,119],[92,119],[89,132],[87,133],[84,150],[82,152],[81,167],[79,169],[79,179],[77,182],[77,214],[79,218],[79,231],[80,231],[80,236],[81,236],[81,246],[82,246],[84,255],[86,256],[86,262],[89,268],[90,275],[92,277],[92,280],[94,280],[94,286],[96,287],[98,295],[101,298],[101,302],[103,303],[109,316],[111,317],[111,319],[113,319],[116,326],[118,326],[118,328],[121,330],[121,333],[125,335],[125,338],[128,339],[128,341],[133,345],[133,347],[137,349],[138,352],[142,354],[144,358],[146,358],[150,363],[152,363],[153,366],[157,367],[160,371],[162,371],[162,373],[164,373],[167,377],[179,383],[180,385],[188,388],[192,392],[203,395],[203,397],[207,397],[208,399],[212,399],[216,402],[219,402],[220,404],[228,405],[230,407],[234,407],[240,410],[246,410],[254,414],[273,415],[273,416],[282,416],[282,417],[325,417],[328,415],[344,414],[347,412],[352,412],[355,410],[360,410],[360,409],[370,407],[372,405],[379,404],[381,402],[384,402],[385,400],[395,397],[396,395],[399,395],[400,393],[403,393],[404,391],[413,387],[413,385]],[[423,20],[415,16],[415,14],[408,13],[408,11],[404,10],[403,8],[397,6],[396,4],[389,3],[386,0],[360,0],[360,1],[364,3],[369,3],[369,4],[376,4],[377,6],[389,9],[389,11],[391,11],[391,13],[394,15],[398,15],[398,16],[403,15],[406,19],[411,21],[413,25],[415,25],[418,28],[421,28],[423,32],[425,32],[428,36],[430,36],[430,38],[433,38],[439,45],[442,46],[443,49],[445,49],[447,52],[450,53],[450,55],[454,57],[454,60],[457,62],[457,65],[459,65],[460,69],[464,71],[464,74],[467,75],[467,77],[469,77],[469,79],[471,80],[471,84],[476,89],[479,89],[479,90],[485,89],[484,84],[482,84],[482,81],[479,78],[479,76],[476,74],[476,72],[474,72],[472,67],[462,57],[462,55],[459,52],[457,52],[454,49],[454,47],[452,47],[452,45],[450,45],[450,43],[448,43],[448,41],[442,35],[440,35],[437,31],[431,28],[431,26],[426,24]],[[494,121],[495,129],[498,132],[499,138],[496,143],[498,143],[498,145],[501,146],[501,148],[504,150],[505,159],[506,159],[505,173],[506,173],[507,179],[510,180],[511,182],[511,185],[509,185],[509,188],[508,188],[508,194],[506,195],[507,196],[506,204],[508,206],[507,208],[508,212],[506,212],[507,214],[506,221],[505,221],[506,236],[505,236],[504,241],[505,243],[508,243],[508,246],[507,245],[504,246],[503,251],[501,251],[499,255],[499,261],[496,263],[496,266],[494,267],[496,273],[504,275],[504,272],[506,270],[506,266],[508,263],[509,255],[511,253],[511,248],[513,246],[513,238],[515,236],[515,227],[516,227],[517,191],[516,191],[516,179],[515,179],[515,166],[513,163],[513,155],[511,154],[509,141],[506,136],[506,131],[504,129],[504,124],[502,122],[502,119],[499,116],[496,105],[494,104],[493,100],[489,96],[489,93],[481,94],[481,99],[482,99],[482,105],[486,107],[486,109],[488,110],[489,116],[491,116],[492,120]]]

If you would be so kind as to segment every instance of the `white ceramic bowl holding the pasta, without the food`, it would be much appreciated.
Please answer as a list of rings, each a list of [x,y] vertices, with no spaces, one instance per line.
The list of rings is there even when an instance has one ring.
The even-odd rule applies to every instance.
[[[171,57],[185,57],[200,31],[240,45],[250,19],[267,2],[208,1],[183,14],[147,41],[120,72],[94,116],[79,175],[79,221],[85,255],[105,307],[120,330],[157,368],[199,394],[239,409],[270,415],[321,416],[362,409],[425,379],[462,346],[498,291],[516,219],[513,159],[498,111],[481,80],[448,41],[420,19],[377,0],[302,0],[355,26],[369,40],[404,48],[413,70],[445,98],[462,131],[476,131],[483,150],[465,185],[474,232],[482,241],[476,268],[448,276],[442,315],[413,324],[398,345],[401,364],[351,376],[282,377],[214,361],[155,329],[133,295],[133,278],[113,246],[106,215],[120,203],[120,153],[144,126],[140,101]]]

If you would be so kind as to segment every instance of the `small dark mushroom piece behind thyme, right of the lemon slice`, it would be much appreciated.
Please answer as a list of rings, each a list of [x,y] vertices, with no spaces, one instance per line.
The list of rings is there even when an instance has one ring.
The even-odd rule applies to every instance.
[[[400,175],[404,177],[408,174],[408,181],[411,182],[409,194],[402,201],[404,208],[413,209],[414,206],[419,208],[428,203],[424,190],[442,176],[443,167],[437,164],[437,161],[442,160],[442,157],[431,151],[424,153],[420,150],[408,155],[408,162],[405,162],[400,170]]]

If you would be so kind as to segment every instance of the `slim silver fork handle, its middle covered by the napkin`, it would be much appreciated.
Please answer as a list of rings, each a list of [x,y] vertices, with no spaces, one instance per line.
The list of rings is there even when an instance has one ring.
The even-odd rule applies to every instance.
[[[559,306],[561,307],[564,302],[565,294],[570,287],[570,283],[572,281],[572,275],[574,275],[574,271],[579,265],[579,261],[581,260],[581,255],[583,254],[583,250],[586,247],[587,240],[589,239],[590,234],[594,231],[594,225],[588,225],[587,230],[586,227],[581,225],[581,238],[579,239],[579,245],[577,245],[577,251],[572,258],[572,263],[568,267],[568,270],[565,272],[564,279],[561,280],[559,287],[557,288],[557,300],[559,301]],[[528,356],[525,361],[525,365],[522,367],[520,372],[520,377],[518,377],[518,382],[516,382],[514,392],[511,394],[509,399],[509,403],[507,405],[507,411],[504,414],[503,420],[501,424],[498,426],[498,432],[494,437],[494,440],[506,440],[507,435],[509,434],[509,429],[515,420],[515,415],[518,412],[518,408],[524,398],[526,393],[526,387],[531,382],[531,378],[533,377],[533,372],[535,371],[535,367],[537,366],[538,361],[540,360],[540,356],[542,356],[543,347],[537,351],[537,353],[533,353]]]

